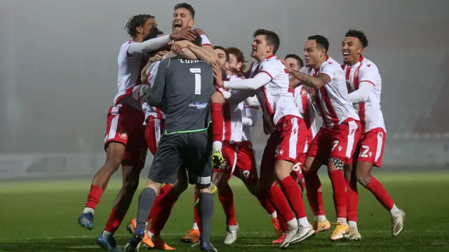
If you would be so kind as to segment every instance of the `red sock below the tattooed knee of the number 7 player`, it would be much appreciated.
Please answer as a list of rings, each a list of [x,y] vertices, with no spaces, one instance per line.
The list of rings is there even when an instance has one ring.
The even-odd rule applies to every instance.
[[[330,183],[334,191],[334,206],[337,218],[346,218],[347,212],[347,185],[344,180],[343,172],[335,170],[329,172]]]

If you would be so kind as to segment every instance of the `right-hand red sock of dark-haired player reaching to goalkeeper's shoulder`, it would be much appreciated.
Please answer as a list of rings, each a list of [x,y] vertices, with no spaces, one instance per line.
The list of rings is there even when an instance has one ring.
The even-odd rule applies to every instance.
[[[288,176],[280,181],[283,193],[286,195],[290,207],[295,212],[296,218],[307,217],[304,202],[302,202],[302,192],[292,176]]]

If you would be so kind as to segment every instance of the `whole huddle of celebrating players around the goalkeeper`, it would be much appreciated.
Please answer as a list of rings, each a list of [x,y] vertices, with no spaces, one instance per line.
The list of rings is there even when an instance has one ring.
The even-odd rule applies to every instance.
[[[142,246],[175,250],[161,239],[161,230],[189,183],[196,188],[194,226],[181,240],[201,251],[216,251],[210,229],[217,193],[227,217],[224,243],[233,244],[239,233],[228,183],[233,175],[271,217],[277,235],[273,244],[286,248],[330,230],[318,176],[323,165],[328,167],[337,214],[332,241],[361,239],[357,182],[390,212],[391,235],[398,235],[405,214],[371,174],[381,165],[387,134],[380,110],[380,73],[362,56],[368,46],[365,34],[347,32],[344,64],[339,64],[327,55],[324,36],[307,38],[302,62],[294,54],[274,56],[279,36],[258,29],[251,51],[256,64],[245,71],[241,50],[213,47],[204,31],[192,30],[194,15],[188,3],[177,4],[170,35],[159,31],[151,15],[128,21],[132,39],[119,52],[119,92],[107,114],[107,158],[93,178],[79,224],[93,229],[95,207],[121,165],[123,186],[97,239],[107,251],[121,251],[114,232],[138,188],[149,148],[154,160],[137,218],[128,224],[133,235],[125,251]],[[259,173],[249,130],[258,109],[269,134]],[[323,118],[318,132],[316,113]],[[303,190],[314,213],[311,223]]]

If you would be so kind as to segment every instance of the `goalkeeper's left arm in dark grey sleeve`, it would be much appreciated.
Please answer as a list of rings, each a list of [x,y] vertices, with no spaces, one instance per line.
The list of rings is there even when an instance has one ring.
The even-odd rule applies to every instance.
[[[163,92],[166,89],[166,72],[170,59],[161,62],[161,66],[157,69],[156,79],[152,87],[144,85],[140,90],[140,99],[147,102],[149,106],[160,107],[163,99]]]

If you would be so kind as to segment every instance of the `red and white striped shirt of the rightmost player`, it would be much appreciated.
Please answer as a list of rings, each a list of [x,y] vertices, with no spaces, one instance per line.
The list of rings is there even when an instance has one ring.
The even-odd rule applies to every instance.
[[[374,86],[373,90],[368,94],[366,102],[354,104],[354,109],[358,113],[362,132],[366,133],[375,128],[385,130],[384,116],[380,110],[380,93],[382,91],[382,79],[380,78],[377,66],[365,57],[361,57],[360,61],[353,66],[342,64],[345,73],[347,89],[349,92],[358,90],[360,83],[366,82]]]

